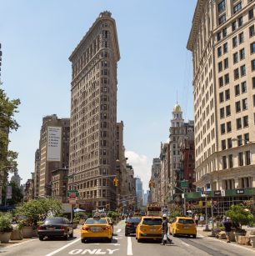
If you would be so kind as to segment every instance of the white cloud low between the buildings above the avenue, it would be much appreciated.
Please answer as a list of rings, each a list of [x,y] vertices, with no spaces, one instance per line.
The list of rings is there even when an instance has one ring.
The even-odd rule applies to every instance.
[[[138,176],[142,179],[143,190],[146,192],[152,174],[153,162],[147,156],[139,155],[133,151],[126,151],[125,155],[128,158],[128,163],[133,166],[134,177]]]

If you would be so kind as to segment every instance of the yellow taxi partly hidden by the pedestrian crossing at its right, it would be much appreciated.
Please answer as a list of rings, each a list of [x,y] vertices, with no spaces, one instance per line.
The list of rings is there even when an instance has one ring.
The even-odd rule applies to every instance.
[[[157,216],[142,216],[136,229],[138,243],[143,239],[162,238],[162,218]]]

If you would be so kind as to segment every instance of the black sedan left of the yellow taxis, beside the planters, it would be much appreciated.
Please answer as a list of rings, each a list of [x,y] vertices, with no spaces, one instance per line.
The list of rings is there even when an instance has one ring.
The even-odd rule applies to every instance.
[[[38,238],[42,241],[44,237],[73,237],[72,223],[67,218],[46,218],[41,226],[37,228]]]

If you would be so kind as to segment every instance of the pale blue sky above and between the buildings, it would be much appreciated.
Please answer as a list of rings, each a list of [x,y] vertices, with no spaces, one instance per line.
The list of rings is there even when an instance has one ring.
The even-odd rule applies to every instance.
[[[192,54],[186,46],[196,0],[0,0],[2,88],[20,98],[20,128],[10,134],[18,173],[26,183],[34,171],[42,117],[70,117],[68,58],[99,13],[117,24],[117,122],[135,176],[148,189],[153,158],[168,141],[178,101],[193,120]]]

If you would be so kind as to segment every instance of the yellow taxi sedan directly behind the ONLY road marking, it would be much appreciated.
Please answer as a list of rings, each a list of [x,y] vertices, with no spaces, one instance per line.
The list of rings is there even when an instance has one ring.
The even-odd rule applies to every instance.
[[[105,238],[108,242],[112,241],[112,225],[108,218],[87,218],[82,226],[81,241],[86,243],[93,238]]]

